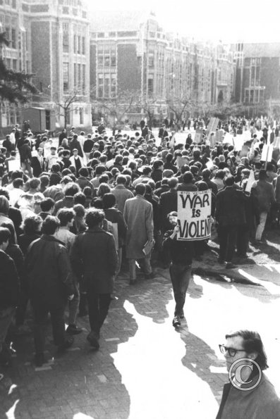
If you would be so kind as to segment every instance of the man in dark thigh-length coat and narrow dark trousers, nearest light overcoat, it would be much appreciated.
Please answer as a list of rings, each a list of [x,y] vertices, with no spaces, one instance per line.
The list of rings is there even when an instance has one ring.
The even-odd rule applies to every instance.
[[[114,236],[102,229],[104,211],[90,208],[85,222],[88,229],[75,237],[71,263],[77,277],[83,277],[87,290],[91,332],[88,342],[99,349],[99,333],[109,311],[114,275],[118,263]]]

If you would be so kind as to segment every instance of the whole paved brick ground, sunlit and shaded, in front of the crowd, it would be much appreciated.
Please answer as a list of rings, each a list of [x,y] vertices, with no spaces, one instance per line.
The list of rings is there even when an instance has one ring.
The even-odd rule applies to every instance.
[[[227,381],[218,344],[240,327],[260,331],[269,378],[280,389],[279,277],[274,283],[257,278],[256,287],[195,275],[185,304],[188,323],[178,332],[171,326],[168,270],[135,286],[121,277],[99,351],[85,339],[87,318],[79,320],[85,331],[62,357],[49,330],[49,364],[42,368],[30,362],[32,336],[17,338],[15,365],[0,383],[0,418],[215,418]]]

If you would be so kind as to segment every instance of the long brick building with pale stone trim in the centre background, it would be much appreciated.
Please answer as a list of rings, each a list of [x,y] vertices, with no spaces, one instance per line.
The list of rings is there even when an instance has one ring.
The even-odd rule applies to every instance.
[[[234,74],[233,54],[225,46],[166,33],[152,13],[106,11],[91,16],[95,110],[127,90],[139,92],[138,113],[152,106],[155,118],[169,115],[169,104],[181,99],[228,104]]]

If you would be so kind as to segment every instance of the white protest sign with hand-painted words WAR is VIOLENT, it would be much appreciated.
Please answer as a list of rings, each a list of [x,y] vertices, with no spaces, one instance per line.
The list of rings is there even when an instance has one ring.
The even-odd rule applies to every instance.
[[[211,237],[211,189],[178,191],[178,240],[192,242]]]

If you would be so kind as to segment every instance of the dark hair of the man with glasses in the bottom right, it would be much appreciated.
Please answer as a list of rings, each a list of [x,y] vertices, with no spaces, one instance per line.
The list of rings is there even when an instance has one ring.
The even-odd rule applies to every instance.
[[[267,355],[265,354],[264,345],[262,344],[260,334],[253,330],[236,330],[236,332],[226,334],[226,339],[237,336],[242,337],[243,348],[247,354],[257,352],[257,358],[255,361],[260,366],[261,370],[266,370],[268,368]]]

